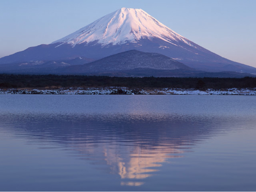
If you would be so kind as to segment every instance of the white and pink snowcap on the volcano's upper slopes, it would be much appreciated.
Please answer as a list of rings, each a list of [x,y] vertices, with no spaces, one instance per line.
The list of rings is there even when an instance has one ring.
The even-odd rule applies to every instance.
[[[136,42],[142,38],[159,38],[175,44],[188,40],[166,27],[141,9],[122,8],[53,43],[80,43],[97,41],[103,46],[112,43]]]

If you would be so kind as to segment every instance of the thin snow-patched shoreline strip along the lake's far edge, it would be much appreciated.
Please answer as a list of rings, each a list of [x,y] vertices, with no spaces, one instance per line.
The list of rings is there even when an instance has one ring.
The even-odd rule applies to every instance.
[[[56,90],[19,90],[0,89],[0,94],[58,94],[58,95],[256,95],[256,88],[197,90],[197,89],[128,89],[125,87],[110,88],[69,88]]]

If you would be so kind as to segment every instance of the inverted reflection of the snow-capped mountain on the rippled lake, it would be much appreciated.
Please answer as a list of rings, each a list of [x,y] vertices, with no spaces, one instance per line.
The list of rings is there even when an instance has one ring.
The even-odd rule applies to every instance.
[[[225,123],[239,127],[241,118],[161,113],[118,114],[2,114],[1,131],[28,143],[54,144],[73,156],[109,166],[121,185],[154,175],[168,159],[182,157],[209,137],[225,134]],[[221,123],[219,123],[221,122]],[[235,125],[236,124],[236,125]],[[230,127],[230,126],[229,126]]]

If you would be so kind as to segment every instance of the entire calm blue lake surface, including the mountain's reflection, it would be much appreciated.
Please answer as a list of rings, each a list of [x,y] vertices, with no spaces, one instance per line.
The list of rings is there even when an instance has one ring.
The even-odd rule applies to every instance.
[[[255,191],[255,96],[0,95],[0,191]]]

